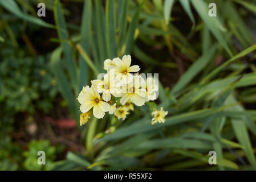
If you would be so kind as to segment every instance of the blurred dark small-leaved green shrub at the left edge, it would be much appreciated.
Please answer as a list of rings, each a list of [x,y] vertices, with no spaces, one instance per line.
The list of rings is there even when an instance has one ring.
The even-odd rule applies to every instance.
[[[1,105],[5,104],[6,110],[13,114],[19,111],[34,113],[34,102],[44,113],[52,109],[57,88],[47,57],[33,58],[23,51],[13,51],[4,45],[1,47]]]

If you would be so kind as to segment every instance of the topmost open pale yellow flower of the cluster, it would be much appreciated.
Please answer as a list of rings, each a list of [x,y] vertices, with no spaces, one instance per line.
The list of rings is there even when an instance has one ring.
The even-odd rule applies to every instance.
[[[138,65],[131,66],[131,61],[132,59],[130,55],[123,56],[122,60],[118,57],[113,59],[113,62],[115,63],[115,66],[113,67],[115,69],[115,75],[124,84],[127,84],[132,81],[131,72],[140,71],[140,67]]]

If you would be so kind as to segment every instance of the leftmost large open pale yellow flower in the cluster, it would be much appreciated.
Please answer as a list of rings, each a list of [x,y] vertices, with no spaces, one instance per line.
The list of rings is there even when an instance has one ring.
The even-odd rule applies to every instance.
[[[94,88],[89,86],[83,87],[83,90],[79,93],[78,101],[80,105],[80,111],[86,113],[92,107],[94,116],[98,119],[103,118],[105,112],[109,111],[110,106],[106,102],[101,101],[100,94],[96,92]]]

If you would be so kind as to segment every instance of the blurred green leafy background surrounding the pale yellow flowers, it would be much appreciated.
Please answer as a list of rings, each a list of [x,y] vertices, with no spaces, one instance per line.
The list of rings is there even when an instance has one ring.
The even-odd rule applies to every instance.
[[[255,170],[256,3],[211,2],[0,0],[0,169]],[[127,54],[159,73],[156,104],[80,127],[82,86]]]

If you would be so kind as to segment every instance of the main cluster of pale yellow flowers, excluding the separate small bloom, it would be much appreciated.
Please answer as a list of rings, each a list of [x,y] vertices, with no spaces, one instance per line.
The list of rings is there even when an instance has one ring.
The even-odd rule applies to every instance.
[[[125,119],[134,106],[156,100],[158,86],[154,78],[147,79],[139,75],[139,65],[131,66],[131,56],[125,55],[104,61],[107,73],[103,78],[91,81],[79,93],[80,125],[84,125],[93,113],[96,118],[103,118],[105,112],[114,114],[118,119]],[[92,110],[92,111],[91,111]]]

